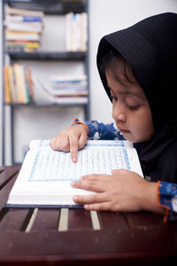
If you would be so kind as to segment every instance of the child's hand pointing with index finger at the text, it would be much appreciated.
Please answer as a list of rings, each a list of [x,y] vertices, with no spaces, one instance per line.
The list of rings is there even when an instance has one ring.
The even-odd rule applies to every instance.
[[[62,130],[50,141],[53,150],[70,152],[73,162],[78,160],[78,150],[87,142],[88,133],[84,125],[79,124]]]

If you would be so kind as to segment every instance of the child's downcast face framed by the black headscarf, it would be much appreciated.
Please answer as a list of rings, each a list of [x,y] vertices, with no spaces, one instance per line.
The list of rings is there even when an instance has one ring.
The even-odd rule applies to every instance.
[[[112,117],[123,136],[130,142],[144,142],[154,135],[150,106],[140,85],[128,82],[123,74],[105,72],[112,95]]]

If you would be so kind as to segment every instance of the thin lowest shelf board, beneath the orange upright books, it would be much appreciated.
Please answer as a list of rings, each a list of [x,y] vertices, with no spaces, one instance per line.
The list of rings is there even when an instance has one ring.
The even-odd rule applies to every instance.
[[[11,107],[67,107],[67,106],[87,106],[88,103],[64,103],[64,104],[53,104],[53,103],[30,103],[30,104],[4,104],[4,106]]]

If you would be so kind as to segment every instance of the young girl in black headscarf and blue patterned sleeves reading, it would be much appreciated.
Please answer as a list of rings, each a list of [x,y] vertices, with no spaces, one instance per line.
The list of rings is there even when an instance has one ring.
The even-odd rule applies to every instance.
[[[163,13],[132,27],[105,35],[99,43],[97,67],[112,101],[112,124],[75,120],[50,146],[70,151],[90,139],[127,139],[135,144],[144,179],[135,172],[82,176],[72,186],[96,192],[73,197],[88,210],[177,212],[177,14]],[[174,184],[176,183],[176,185]],[[176,197],[176,198],[175,198]]]

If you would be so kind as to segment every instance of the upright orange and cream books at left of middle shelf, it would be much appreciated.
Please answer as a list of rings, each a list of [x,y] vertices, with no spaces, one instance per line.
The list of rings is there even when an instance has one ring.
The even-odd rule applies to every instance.
[[[4,66],[4,101],[6,104],[28,104],[34,89],[30,66]]]

